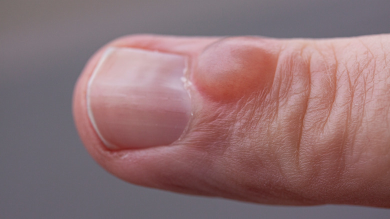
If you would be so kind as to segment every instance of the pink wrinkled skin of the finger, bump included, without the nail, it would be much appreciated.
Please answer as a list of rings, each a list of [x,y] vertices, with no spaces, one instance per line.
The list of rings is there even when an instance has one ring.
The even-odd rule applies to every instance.
[[[85,106],[106,46],[186,55],[187,130],[171,145],[108,150]],[[267,204],[390,207],[390,36],[334,39],[126,36],[74,90],[92,157],[135,184]],[[223,63],[219,66],[217,63]]]

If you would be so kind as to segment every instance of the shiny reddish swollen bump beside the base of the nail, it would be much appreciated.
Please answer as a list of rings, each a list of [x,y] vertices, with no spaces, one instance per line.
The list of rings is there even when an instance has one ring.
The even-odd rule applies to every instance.
[[[225,38],[199,56],[192,80],[217,100],[232,100],[269,90],[277,62],[275,41],[257,37]]]

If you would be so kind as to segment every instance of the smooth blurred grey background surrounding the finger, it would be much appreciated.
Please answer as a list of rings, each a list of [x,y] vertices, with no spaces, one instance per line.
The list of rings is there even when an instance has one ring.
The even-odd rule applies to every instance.
[[[0,0],[0,218],[390,218],[358,206],[285,207],[130,185],[73,125],[88,57],[125,34],[335,37],[390,32],[389,0]]]

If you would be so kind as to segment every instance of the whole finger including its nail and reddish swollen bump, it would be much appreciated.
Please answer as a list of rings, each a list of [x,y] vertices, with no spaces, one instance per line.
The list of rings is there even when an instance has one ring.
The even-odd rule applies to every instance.
[[[136,184],[387,206],[386,59],[369,71],[379,65],[356,56],[382,57],[373,41],[124,37],[80,75],[77,129],[104,168]]]

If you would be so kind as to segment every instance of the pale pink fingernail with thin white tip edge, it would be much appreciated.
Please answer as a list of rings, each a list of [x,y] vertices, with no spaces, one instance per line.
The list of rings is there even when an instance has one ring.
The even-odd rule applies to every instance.
[[[168,145],[191,113],[182,55],[110,47],[87,87],[89,119],[111,149]]]

